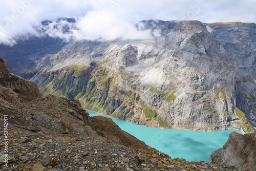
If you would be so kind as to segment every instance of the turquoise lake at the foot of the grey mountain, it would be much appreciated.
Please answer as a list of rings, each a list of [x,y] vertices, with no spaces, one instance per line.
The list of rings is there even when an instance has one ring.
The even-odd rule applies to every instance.
[[[102,116],[88,111],[90,116]],[[107,116],[105,116],[107,117]],[[208,161],[212,151],[223,147],[229,134],[236,130],[201,132],[176,129],[159,129],[112,119],[123,131],[132,134],[147,145],[172,158],[187,161]],[[241,131],[236,131],[241,134]]]

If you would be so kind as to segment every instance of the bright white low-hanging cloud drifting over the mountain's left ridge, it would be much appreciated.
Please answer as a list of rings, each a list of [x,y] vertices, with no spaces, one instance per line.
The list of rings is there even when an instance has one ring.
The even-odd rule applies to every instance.
[[[133,24],[127,23],[113,13],[106,11],[90,11],[86,16],[69,22],[67,18],[46,21],[37,30],[50,37],[70,40],[114,39],[146,39],[151,38],[150,31],[138,30]]]

